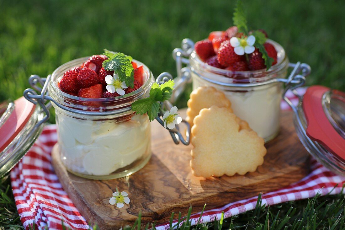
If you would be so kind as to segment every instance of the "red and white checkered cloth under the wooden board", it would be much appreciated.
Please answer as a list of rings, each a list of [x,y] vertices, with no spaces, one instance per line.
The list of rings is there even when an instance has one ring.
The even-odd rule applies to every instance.
[[[304,93],[305,90],[302,89]],[[293,101],[293,94],[289,93]],[[288,105],[282,103],[282,109]],[[56,126],[47,125],[26,156],[11,171],[12,189],[20,220],[25,229],[36,224],[38,229],[61,229],[62,220],[72,229],[89,229],[87,221],[63,190],[51,165],[50,152],[57,141]],[[337,176],[324,166],[312,160],[312,172],[303,180],[273,192],[262,195],[262,204],[278,204],[286,201],[314,197],[318,192],[325,195],[340,193],[345,177]],[[217,209],[204,211],[200,223],[220,220],[255,208],[257,197],[229,203]],[[191,216],[191,224],[196,224],[200,213]],[[176,223],[176,222],[175,222]],[[174,223],[174,224],[175,224]],[[161,224],[158,230],[169,229],[169,224]]]

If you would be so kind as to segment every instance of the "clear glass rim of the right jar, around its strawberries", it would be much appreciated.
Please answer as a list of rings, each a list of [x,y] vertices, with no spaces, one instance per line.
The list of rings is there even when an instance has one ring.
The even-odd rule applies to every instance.
[[[272,44],[277,51],[277,63],[271,66],[268,70],[259,69],[259,70],[249,70],[249,71],[232,71],[227,69],[220,69],[214,66],[210,66],[202,61],[199,56],[196,54],[195,50],[190,55],[191,66],[198,67],[203,71],[208,73],[213,73],[221,76],[223,81],[231,83],[255,83],[255,82],[264,82],[275,78],[275,74],[281,70],[284,70],[288,67],[289,60],[286,56],[284,48],[276,41],[267,39],[269,44]],[[193,65],[194,64],[194,65]],[[194,68],[195,70],[195,68]],[[232,78],[230,76],[236,76]]]

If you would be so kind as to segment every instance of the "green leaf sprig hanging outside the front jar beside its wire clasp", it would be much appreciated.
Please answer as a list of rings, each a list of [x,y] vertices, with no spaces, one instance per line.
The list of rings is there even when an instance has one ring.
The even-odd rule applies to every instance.
[[[171,97],[174,89],[174,80],[159,85],[154,83],[150,89],[150,96],[147,98],[136,100],[132,103],[132,110],[137,114],[145,114],[149,116],[150,121],[153,121],[158,116],[160,110],[160,102],[164,102]]]

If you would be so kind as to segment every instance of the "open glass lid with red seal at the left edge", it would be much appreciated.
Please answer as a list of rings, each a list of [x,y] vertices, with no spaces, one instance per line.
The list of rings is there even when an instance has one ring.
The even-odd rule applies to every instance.
[[[29,150],[42,131],[39,106],[20,97],[0,104],[0,179]]]

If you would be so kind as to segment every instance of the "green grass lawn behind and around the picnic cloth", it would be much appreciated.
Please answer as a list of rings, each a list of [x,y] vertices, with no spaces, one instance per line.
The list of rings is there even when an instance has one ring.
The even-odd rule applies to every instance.
[[[103,48],[133,56],[149,66],[155,76],[164,71],[176,75],[171,51],[183,38],[197,41],[212,30],[231,26],[234,4],[228,0],[0,0],[0,101],[21,96],[29,87],[27,78],[31,74],[47,76],[61,64],[99,54]],[[344,1],[244,0],[244,5],[252,28],[265,29],[270,38],[285,47],[290,61],[312,67],[308,85],[345,90]],[[188,90],[177,103],[179,107],[186,106],[190,87]],[[0,185],[0,192],[0,229],[17,229],[20,221],[8,181]],[[316,216],[321,218],[317,221],[322,220],[318,228],[328,229],[327,224],[337,218],[344,221],[344,212],[325,207],[340,204],[343,199],[343,195],[326,196],[276,205],[259,215],[247,212],[224,220],[223,229],[229,228],[231,221],[235,226],[267,229],[267,213],[270,223],[278,213],[277,220],[283,221],[291,205],[296,211],[289,214],[289,223],[303,218],[308,222],[307,218]],[[326,202],[323,208],[303,217],[304,210],[311,208],[308,205],[322,202]],[[214,229],[212,224],[210,228]]]

